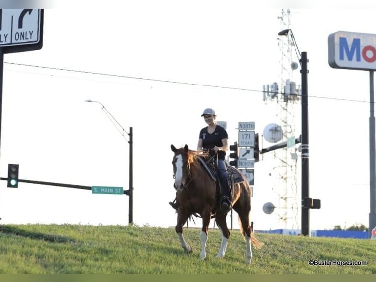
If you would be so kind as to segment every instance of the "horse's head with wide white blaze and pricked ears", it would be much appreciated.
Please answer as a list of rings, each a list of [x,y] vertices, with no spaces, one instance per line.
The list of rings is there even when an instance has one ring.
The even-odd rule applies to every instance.
[[[174,168],[174,187],[176,190],[183,189],[188,184],[189,175],[189,157],[188,146],[184,148],[175,148],[171,145],[171,150],[174,152],[174,158],[172,159],[172,166]]]

